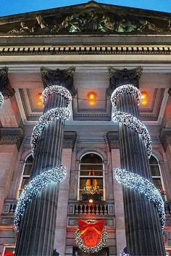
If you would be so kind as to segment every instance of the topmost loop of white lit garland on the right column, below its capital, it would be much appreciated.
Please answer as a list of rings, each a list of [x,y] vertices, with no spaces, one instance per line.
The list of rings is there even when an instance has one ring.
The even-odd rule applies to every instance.
[[[141,91],[138,90],[135,86],[132,86],[131,84],[126,84],[124,86],[117,87],[113,92],[111,96],[111,102],[114,108],[117,107],[117,99],[120,98],[122,94],[133,94],[135,98],[137,99],[138,105],[141,103]]]

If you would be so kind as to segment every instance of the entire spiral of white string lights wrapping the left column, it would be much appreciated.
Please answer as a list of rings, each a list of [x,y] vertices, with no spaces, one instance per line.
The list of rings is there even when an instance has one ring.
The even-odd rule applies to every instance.
[[[42,102],[46,104],[48,97],[51,94],[57,94],[63,96],[66,100],[67,106],[72,101],[72,96],[70,91],[62,86],[50,86],[47,87],[42,94]],[[1,94],[0,94],[1,96]],[[33,133],[30,139],[30,144],[32,148],[32,154],[34,154],[36,143],[38,141],[39,136],[47,125],[49,125],[54,120],[68,120],[70,118],[70,110],[67,107],[55,107],[51,110],[45,112],[39,118],[38,122],[36,123],[35,127],[33,128]],[[43,173],[39,174],[35,178],[33,178],[25,189],[22,190],[20,194],[20,198],[17,202],[17,207],[14,212],[14,225],[17,228],[17,231],[20,228],[20,220],[22,215],[25,212],[25,208],[27,207],[28,203],[36,197],[36,194],[40,193],[41,190],[47,186],[49,183],[58,183],[63,181],[66,177],[66,168],[62,165],[61,167],[54,167],[49,170],[44,171]]]

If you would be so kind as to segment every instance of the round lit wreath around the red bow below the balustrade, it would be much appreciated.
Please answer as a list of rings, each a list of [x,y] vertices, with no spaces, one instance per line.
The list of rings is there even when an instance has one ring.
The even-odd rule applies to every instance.
[[[86,222],[96,223],[96,220],[86,220]],[[105,244],[107,242],[107,230],[106,228],[103,228],[99,244],[97,244],[95,247],[87,247],[85,244],[83,244],[83,241],[81,239],[80,229],[78,227],[75,231],[75,241],[76,241],[76,244],[78,245],[78,248],[81,249],[83,252],[87,252],[87,253],[99,252],[103,247],[105,247]]]

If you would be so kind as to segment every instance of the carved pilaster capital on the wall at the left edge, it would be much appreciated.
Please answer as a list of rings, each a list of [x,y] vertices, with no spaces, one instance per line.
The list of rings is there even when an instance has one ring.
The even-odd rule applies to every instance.
[[[17,144],[20,148],[22,143],[23,131],[22,128],[0,128],[0,144]]]

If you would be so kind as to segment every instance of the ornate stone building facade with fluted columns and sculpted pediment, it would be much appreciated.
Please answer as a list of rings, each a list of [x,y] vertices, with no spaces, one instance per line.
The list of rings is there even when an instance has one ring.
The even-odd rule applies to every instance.
[[[170,22],[168,13],[95,1],[0,18],[0,255],[13,255],[16,244],[16,255],[88,255],[75,239],[78,220],[104,220],[107,243],[91,255],[120,255],[125,246],[144,255],[150,244],[146,255],[162,255],[163,245],[171,255]],[[117,110],[148,128],[149,160],[141,136],[112,121],[112,92],[128,84],[143,95],[139,110],[130,92],[118,96]],[[70,96],[51,95],[51,86]],[[56,120],[33,134],[53,109]],[[17,233],[14,212],[29,179],[61,164],[66,178],[39,191]],[[153,203],[122,189],[120,167],[162,194],[162,239]]]

